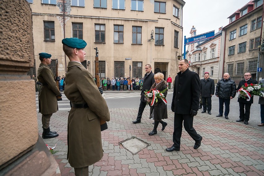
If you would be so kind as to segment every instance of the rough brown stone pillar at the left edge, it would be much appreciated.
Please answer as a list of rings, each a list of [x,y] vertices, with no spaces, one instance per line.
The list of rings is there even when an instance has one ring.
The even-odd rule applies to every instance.
[[[0,2],[0,175],[60,175],[38,135],[32,16],[26,0]]]

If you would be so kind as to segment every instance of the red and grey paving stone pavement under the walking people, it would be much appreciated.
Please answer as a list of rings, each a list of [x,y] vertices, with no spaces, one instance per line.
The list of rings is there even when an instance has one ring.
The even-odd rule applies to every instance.
[[[141,123],[132,124],[138,109],[109,109],[111,121],[102,132],[103,158],[89,166],[89,176],[173,176],[173,175],[264,175],[264,131],[233,121],[199,115],[194,128],[203,137],[201,146],[193,149],[194,141],[183,128],[181,150],[166,152],[171,147],[174,113],[168,111],[164,131],[161,124],[158,134],[149,136],[153,129],[148,118],[149,109],[143,112]],[[37,115],[39,134],[42,135],[41,114]],[[54,157],[62,176],[74,175],[67,161],[68,112],[58,111],[51,117],[51,130],[58,137],[43,139],[50,146],[57,144]],[[121,141],[137,137],[150,144],[132,155],[119,145]]]

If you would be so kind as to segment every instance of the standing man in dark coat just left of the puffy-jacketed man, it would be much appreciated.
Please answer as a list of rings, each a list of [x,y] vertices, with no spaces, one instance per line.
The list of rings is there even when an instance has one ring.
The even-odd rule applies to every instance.
[[[206,101],[207,101],[207,111],[211,115],[212,109],[212,96],[214,95],[214,81],[209,78],[209,72],[205,72],[204,79],[200,80],[201,84],[201,97],[203,102],[203,111],[206,112]]]

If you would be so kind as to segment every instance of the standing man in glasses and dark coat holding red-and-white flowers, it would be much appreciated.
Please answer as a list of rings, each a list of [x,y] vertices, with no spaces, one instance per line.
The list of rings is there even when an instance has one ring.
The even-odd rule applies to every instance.
[[[239,89],[245,84],[257,84],[257,81],[253,80],[251,78],[251,73],[246,72],[244,74],[243,80],[239,82],[239,85],[237,86],[236,92],[239,91]],[[249,101],[247,99],[244,99],[242,97],[238,98],[237,100],[239,102],[239,120],[236,120],[237,122],[244,121],[244,124],[248,125],[249,124],[249,115],[250,115],[250,107],[251,104],[253,103],[253,95],[250,98]]]

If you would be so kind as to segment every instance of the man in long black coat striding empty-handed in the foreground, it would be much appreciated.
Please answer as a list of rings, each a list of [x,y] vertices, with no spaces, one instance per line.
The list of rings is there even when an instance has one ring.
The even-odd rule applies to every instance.
[[[201,145],[202,136],[193,128],[193,117],[197,115],[200,100],[200,78],[195,72],[189,70],[187,59],[179,61],[179,70],[175,77],[171,110],[174,112],[173,146],[166,151],[179,151],[183,126],[195,141],[194,149]]]

